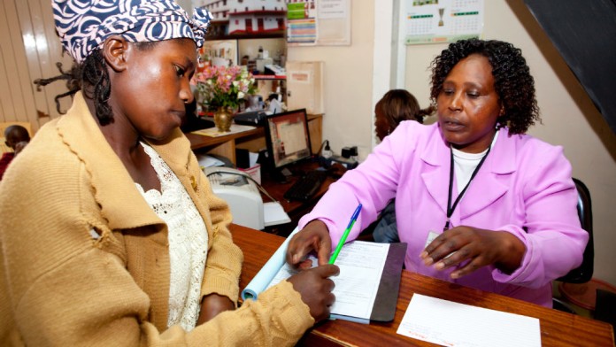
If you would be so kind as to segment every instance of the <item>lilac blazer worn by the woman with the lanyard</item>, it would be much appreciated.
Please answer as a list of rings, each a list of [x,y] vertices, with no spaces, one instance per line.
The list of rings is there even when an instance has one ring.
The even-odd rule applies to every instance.
[[[408,243],[407,270],[551,307],[551,281],[581,264],[589,238],[580,227],[571,165],[562,147],[529,135],[510,137],[501,129],[451,216],[451,227],[504,230],[520,238],[527,251],[512,274],[484,266],[451,280],[453,269],[436,271],[420,261],[428,232],[443,232],[449,174],[450,149],[438,124],[404,121],[365,162],[330,186],[299,227],[323,220],[335,248],[359,203],[363,209],[349,241],[396,197],[400,242]],[[453,187],[455,199],[458,189]]]

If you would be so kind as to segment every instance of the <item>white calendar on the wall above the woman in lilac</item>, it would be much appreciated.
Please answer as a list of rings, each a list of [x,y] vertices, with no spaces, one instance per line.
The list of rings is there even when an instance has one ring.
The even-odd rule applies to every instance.
[[[484,0],[406,0],[406,44],[480,37]]]

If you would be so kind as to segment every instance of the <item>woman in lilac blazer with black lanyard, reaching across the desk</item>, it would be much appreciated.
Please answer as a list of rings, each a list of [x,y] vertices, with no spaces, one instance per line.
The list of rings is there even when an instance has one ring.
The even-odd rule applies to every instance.
[[[478,39],[432,62],[437,122],[400,123],[299,221],[289,264],[319,264],[363,209],[348,240],[396,197],[407,270],[551,307],[551,281],[581,264],[571,165],[560,146],[525,135],[540,120],[521,50]]]

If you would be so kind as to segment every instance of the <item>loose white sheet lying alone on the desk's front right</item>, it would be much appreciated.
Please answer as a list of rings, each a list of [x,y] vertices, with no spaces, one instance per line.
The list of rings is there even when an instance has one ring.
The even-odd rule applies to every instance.
[[[420,294],[413,294],[397,334],[443,346],[541,346],[536,318]]]

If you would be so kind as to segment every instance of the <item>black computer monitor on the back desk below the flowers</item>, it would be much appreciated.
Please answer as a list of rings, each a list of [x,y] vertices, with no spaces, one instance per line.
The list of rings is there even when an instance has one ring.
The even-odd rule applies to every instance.
[[[312,157],[305,109],[268,115],[265,127],[272,174],[284,173],[289,165]]]

